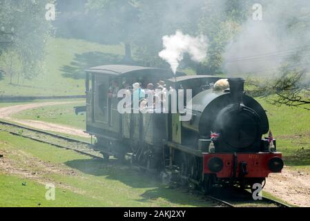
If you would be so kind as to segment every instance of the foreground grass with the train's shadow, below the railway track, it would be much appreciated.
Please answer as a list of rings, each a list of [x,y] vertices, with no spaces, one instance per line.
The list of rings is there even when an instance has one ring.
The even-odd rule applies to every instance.
[[[113,160],[105,164],[4,132],[0,141],[10,164],[0,168],[0,206],[214,206]],[[55,201],[45,200],[49,183],[56,186]]]

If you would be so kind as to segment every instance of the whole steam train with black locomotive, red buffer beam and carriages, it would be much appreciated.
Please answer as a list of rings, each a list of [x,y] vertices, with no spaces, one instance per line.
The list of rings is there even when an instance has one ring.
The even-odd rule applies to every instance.
[[[244,79],[230,78],[229,88],[215,90],[221,77],[173,75],[171,70],[108,65],[86,70],[86,131],[95,135],[93,148],[134,166],[161,171],[168,180],[193,184],[209,193],[214,186],[251,188],[263,184],[269,173],[280,173],[282,154],[276,142],[262,137],[269,131],[267,115],[244,93]],[[192,90],[188,121],[184,111],[121,114],[121,98],[108,96],[110,85],[132,85],[159,80],[166,88]],[[188,101],[187,101],[188,102]],[[133,108],[133,107],[131,107]]]

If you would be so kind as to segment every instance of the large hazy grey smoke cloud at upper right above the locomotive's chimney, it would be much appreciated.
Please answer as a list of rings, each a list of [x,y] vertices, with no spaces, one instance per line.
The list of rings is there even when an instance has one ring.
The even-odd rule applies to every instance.
[[[241,25],[239,35],[226,46],[224,73],[267,76],[279,75],[279,68],[286,64],[291,68],[308,68],[309,1],[261,3],[262,20],[255,21],[250,15]]]

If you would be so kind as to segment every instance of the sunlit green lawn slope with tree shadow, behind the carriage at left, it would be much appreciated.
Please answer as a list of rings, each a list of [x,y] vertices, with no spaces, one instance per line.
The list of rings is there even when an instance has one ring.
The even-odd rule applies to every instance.
[[[50,38],[46,44],[45,73],[17,85],[17,77],[0,80],[0,96],[84,95],[84,69],[117,64],[124,55],[121,44],[105,46],[77,39]]]

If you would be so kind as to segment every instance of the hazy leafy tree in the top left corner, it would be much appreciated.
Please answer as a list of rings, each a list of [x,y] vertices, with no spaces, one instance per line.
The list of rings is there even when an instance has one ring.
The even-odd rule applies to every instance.
[[[2,49],[4,52],[16,54],[14,57],[18,57],[21,62],[21,74],[24,79],[31,79],[43,71],[44,46],[51,27],[50,22],[45,19],[45,6],[48,2],[1,1],[1,26],[6,30],[14,28],[13,44]]]

